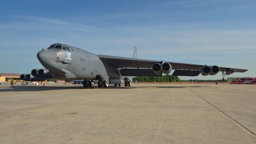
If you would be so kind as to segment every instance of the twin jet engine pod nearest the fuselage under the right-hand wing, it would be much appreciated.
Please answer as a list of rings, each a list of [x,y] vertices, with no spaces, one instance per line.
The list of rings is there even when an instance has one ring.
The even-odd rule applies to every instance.
[[[153,72],[157,75],[161,74],[169,74],[172,71],[172,66],[170,63],[163,63],[162,65],[160,63],[155,63],[153,65]]]

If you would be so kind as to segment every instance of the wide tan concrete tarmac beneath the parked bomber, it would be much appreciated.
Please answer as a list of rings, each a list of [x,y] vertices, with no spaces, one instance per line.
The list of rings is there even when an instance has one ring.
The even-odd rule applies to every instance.
[[[0,85],[0,143],[256,143],[256,86]]]

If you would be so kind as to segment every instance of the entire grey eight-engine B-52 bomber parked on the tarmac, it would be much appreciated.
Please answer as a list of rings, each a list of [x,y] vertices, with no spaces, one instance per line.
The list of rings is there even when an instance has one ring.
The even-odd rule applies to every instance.
[[[94,88],[95,81],[98,87],[108,88],[115,86],[131,86],[132,78],[136,76],[203,76],[224,75],[234,72],[246,72],[239,68],[218,67],[216,65],[194,65],[188,63],[173,63],[169,61],[154,61],[137,59],[137,49],[134,49],[133,58],[106,56],[93,54],[77,47],[65,44],[52,44],[47,49],[37,53],[37,58],[45,68],[33,69],[31,74],[22,74],[20,79],[26,81],[44,81],[47,78],[72,80],[84,79],[83,87]]]

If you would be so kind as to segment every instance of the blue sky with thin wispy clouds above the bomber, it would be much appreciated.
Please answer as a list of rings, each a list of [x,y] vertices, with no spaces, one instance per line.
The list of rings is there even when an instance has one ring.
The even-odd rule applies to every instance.
[[[36,53],[54,43],[95,54],[248,69],[256,77],[256,1],[0,2],[0,72],[43,68]],[[216,76],[180,79],[221,79]]]

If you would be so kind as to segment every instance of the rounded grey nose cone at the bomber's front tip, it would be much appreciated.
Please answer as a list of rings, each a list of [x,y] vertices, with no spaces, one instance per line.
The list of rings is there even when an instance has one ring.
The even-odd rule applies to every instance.
[[[37,58],[42,65],[49,65],[49,63],[56,62],[56,51],[44,50],[37,53]]]

